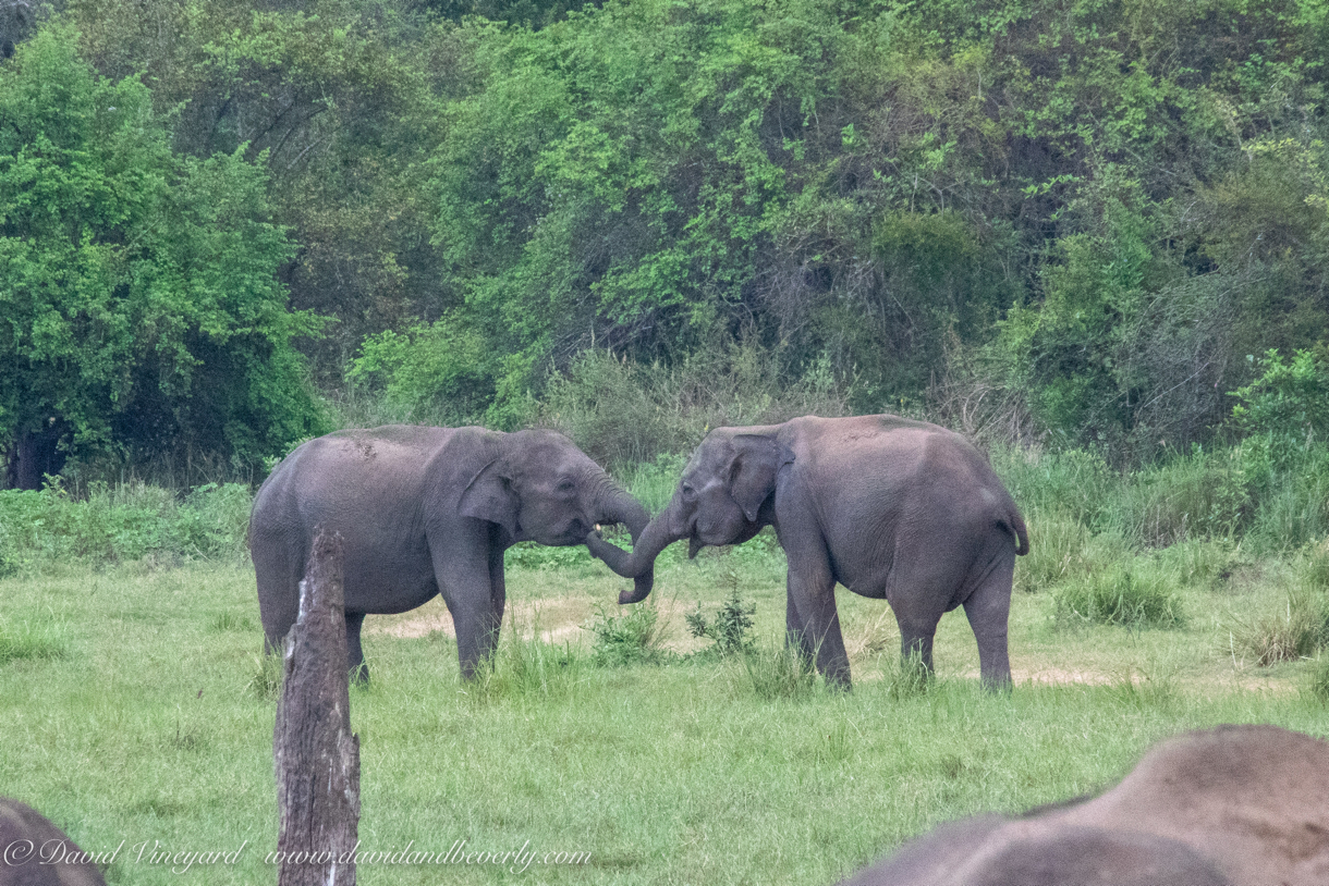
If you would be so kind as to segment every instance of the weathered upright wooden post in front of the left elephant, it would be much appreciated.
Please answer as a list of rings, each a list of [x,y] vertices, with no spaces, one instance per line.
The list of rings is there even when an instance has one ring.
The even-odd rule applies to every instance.
[[[342,537],[315,530],[276,703],[278,886],[355,886],[360,740],[351,733]]]

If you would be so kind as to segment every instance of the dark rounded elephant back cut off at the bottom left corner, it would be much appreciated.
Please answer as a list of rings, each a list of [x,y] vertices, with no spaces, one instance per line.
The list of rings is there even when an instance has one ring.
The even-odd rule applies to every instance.
[[[106,881],[45,816],[0,797],[0,886],[106,886]]]

